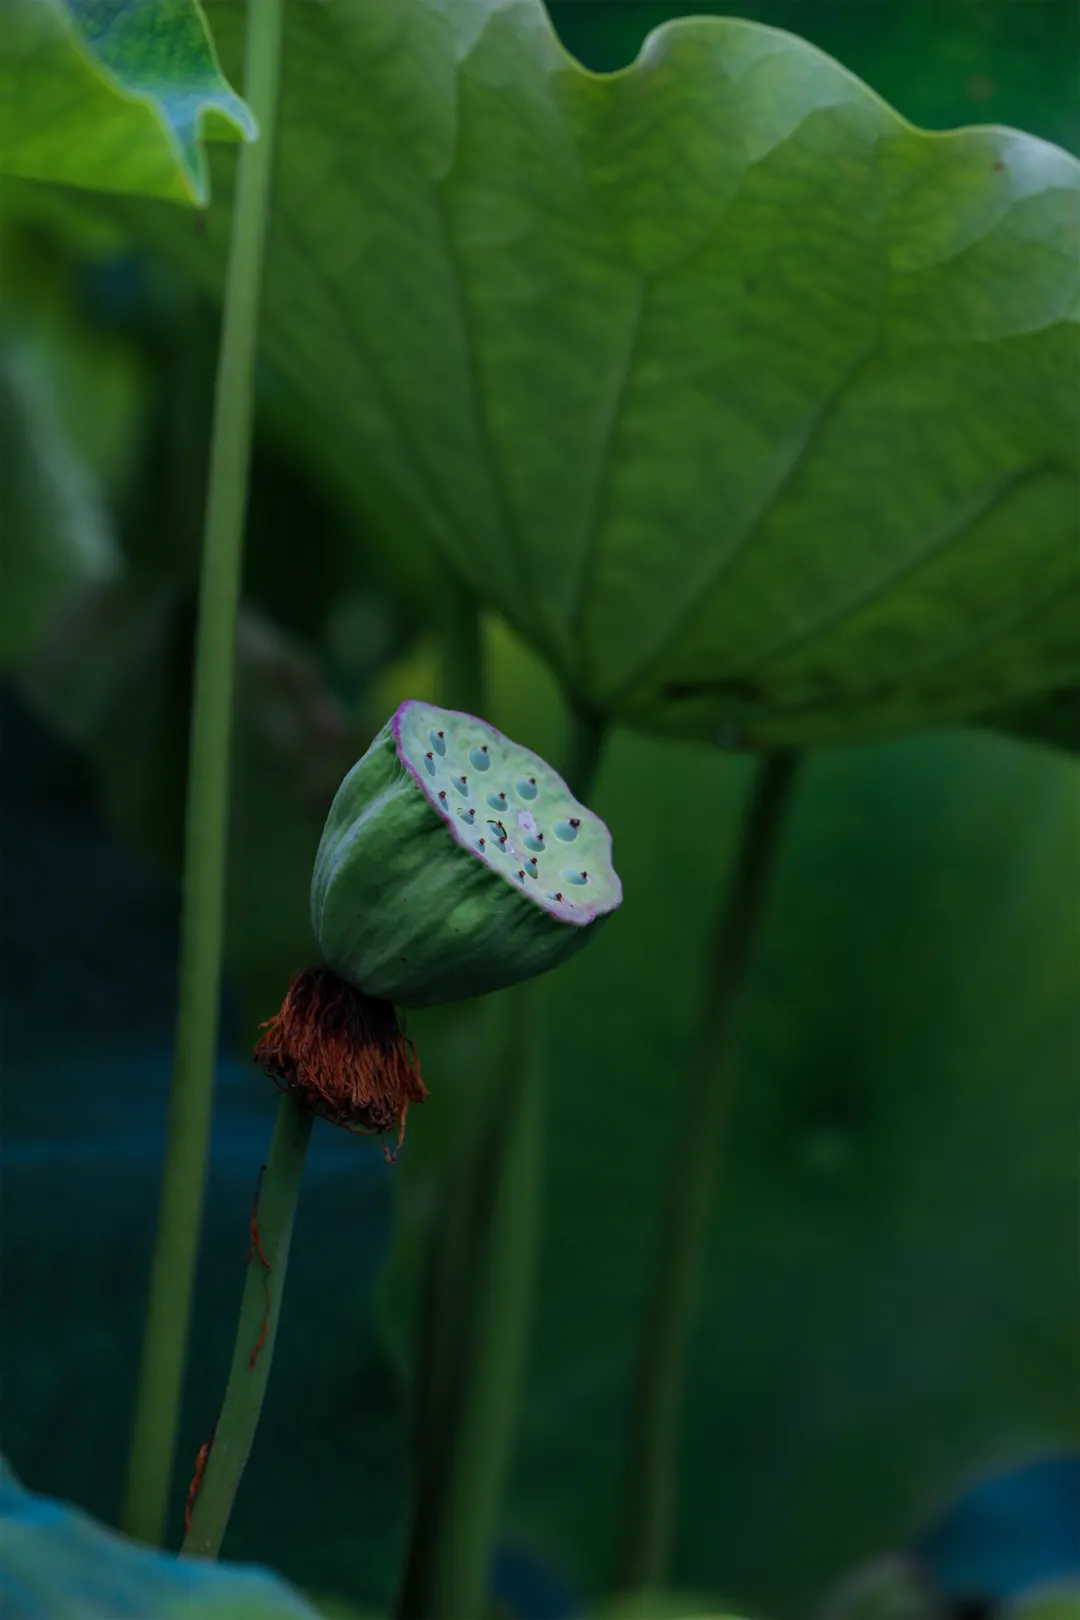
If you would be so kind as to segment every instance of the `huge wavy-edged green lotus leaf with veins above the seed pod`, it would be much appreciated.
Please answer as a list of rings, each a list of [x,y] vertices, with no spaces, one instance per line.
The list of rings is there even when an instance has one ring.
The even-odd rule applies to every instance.
[[[539,0],[293,5],[266,342],[588,705],[902,731],[1080,663],[1078,191],[758,24],[594,76]],[[223,209],[142,228],[220,279]]]

